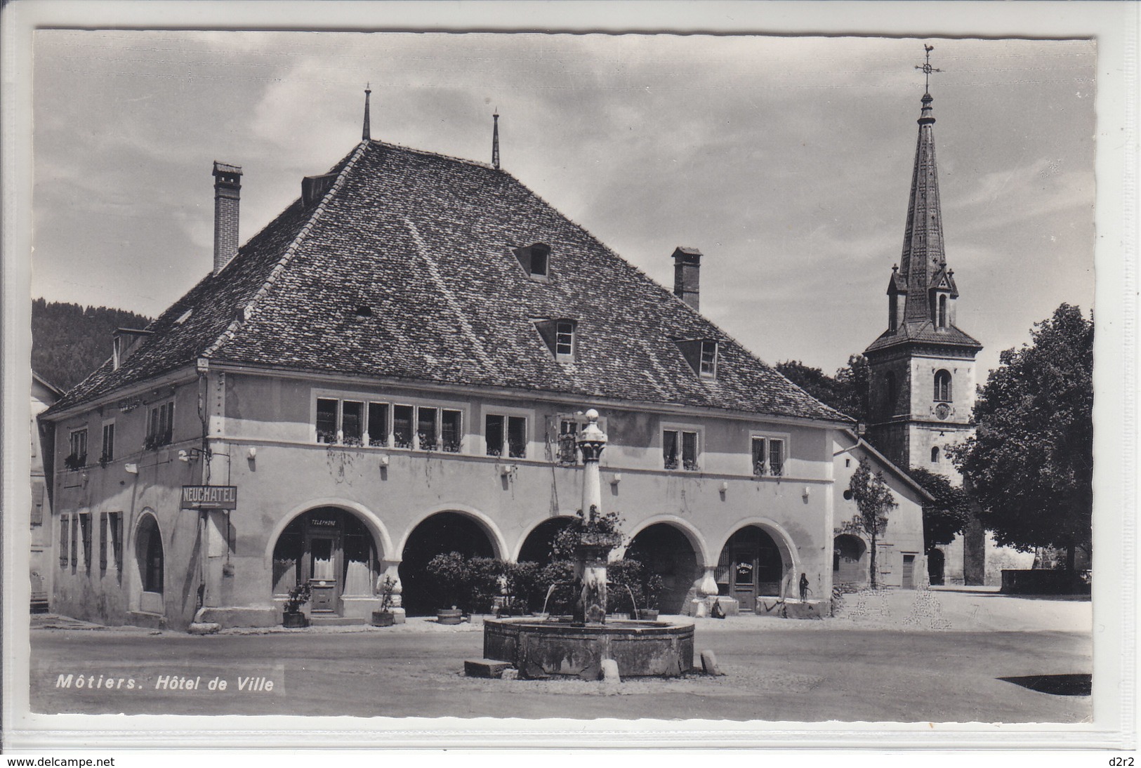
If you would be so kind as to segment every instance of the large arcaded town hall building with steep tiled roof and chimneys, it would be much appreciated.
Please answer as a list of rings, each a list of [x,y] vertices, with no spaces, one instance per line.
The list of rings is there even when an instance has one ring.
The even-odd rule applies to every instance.
[[[215,165],[216,228],[236,229],[241,173]],[[496,165],[367,128],[300,192],[236,252],[218,233],[213,270],[41,417],[54,609],[269,625],[309,583],[306,611],[341,623],[388,576],[432,612],[430,557],[536,559],[575,515],[591,407],[601,511],[663,576],[664,613],[756,609],[802,575],[831,595],[837,494],[871,448],[701,315],[697,250],[666,290]],[[916,567],[922,492],[897,476]]]

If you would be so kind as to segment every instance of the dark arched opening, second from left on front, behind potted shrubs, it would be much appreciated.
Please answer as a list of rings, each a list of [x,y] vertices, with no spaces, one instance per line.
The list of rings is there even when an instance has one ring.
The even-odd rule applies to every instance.
[[[495,557],[492,540],[472,517],[460,512],[437,512],[408,534],[400,559],[404,609],[410,616],[426,616],[447,608],[431,589],[428,563],[437,555],[459,552],[464,557]]]

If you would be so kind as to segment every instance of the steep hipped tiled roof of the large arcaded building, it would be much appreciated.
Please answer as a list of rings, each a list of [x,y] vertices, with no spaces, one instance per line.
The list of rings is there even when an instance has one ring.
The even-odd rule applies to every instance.
[[[321,201],[290,205],[58,411],[212,361],[848,420],[751,355],[511,175],[365,142]],[[512,249],[550,246],[529,277]],[[358,306],[371,308],[361,317]],[[244,313],[240,310],[244,308]],[[189,309],[183,323],[177,321]],[[555,359],[535,321],[576,322]],[[677,340],[715,339],[717,380]]]

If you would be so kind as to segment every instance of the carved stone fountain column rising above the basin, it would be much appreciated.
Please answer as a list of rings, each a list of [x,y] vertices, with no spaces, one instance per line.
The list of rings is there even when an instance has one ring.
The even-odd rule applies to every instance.
[[[575,583],[580,585],[574,621],[583,624],[606,622],[606,561],[617,542],[600,532],[596,520],[601,514],[601,482],[598,462],[606,447],[606,432],[598,427],[598,411],[586,411],[586,426],[578,434],[582,451],[582,528],[575,545]]]

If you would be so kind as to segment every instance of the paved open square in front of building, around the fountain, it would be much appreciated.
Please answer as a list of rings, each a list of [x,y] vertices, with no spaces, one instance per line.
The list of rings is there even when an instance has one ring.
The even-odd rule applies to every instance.
[[[616,688],[464,677],[463,660],[482,655],[479,621],[205,637],[33,629],[32,710],[897,722],[1092,716],[1090,696],[1002,679],[1090,674],[1087,600],[893,591],[849,599],[841,616],[824,621],[699,620],[697,650],[713,649],[725,677],[631,679]]]

